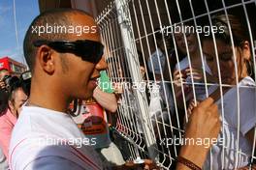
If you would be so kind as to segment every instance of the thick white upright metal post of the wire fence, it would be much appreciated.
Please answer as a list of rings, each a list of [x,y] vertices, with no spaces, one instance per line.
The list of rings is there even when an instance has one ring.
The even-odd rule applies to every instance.
[[[117,11],[118,24],[121,31],[122,42],[125,47],[125,57],[129,65],[129,71],[133,83],[143,82],[142,75],[140,73],[140,63],[138,58],[137,47],[134,39],[132,20],[129,11],[129,0],[115,0],[115,7]],[[157,159],[157,152],[154,149],[156,147],[156,140],[154,137],[154,131],[149,118],[148,105],[146,103],[145,93],[139,90],[133,89],[134,95],[138,100],[139,110],[142,116],[144,137],[146,147],[148,149],[149,157]]]

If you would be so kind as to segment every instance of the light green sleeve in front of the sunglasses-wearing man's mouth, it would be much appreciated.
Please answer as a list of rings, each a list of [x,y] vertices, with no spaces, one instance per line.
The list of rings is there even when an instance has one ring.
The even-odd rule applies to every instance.
[[[112,82],[111,82],[111,79],[110,79],[109,75],[107,74],[106,71],[101,71],[100,74],[101,74],[100,79],[99,79],[100,89],[103,92],[112,94],[114,91],[113,91],[113,88],[112,88]]]

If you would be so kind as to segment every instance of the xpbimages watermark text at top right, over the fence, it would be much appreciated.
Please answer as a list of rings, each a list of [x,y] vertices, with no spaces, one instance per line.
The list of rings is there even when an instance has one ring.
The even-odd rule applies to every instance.
[[[225,32],[225,27],[222,26],[193,26],[193,25],[183,25],[174,24],[172,26],[161,26],[161,32],[165,36],[170,36],[171,34],[203,34],[204,36],[209,36],[211,34],[223,34]]]

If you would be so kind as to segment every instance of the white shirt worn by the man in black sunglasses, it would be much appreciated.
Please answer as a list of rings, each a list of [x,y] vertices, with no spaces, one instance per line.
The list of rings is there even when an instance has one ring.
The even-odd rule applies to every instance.
[[[12,170],[103,169],[71,117],[36,106],[23,106],[13,130],[9,163]]]

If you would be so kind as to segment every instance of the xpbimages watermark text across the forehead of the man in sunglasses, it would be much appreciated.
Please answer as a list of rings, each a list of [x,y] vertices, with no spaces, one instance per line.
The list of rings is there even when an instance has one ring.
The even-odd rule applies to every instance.
[[[97,26],[88,25],[58,25],[54,23],[53,25],[37,25],[32,26],[32,34],[38,34],[41,36],[43,34],[74,34],[76,36],[81,36],[82,34],[94,34],[97,33]]]

